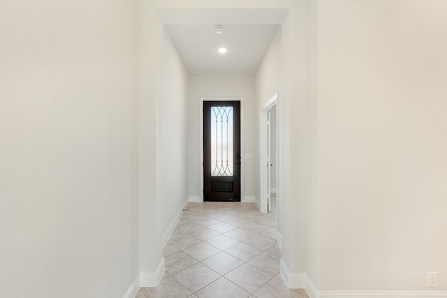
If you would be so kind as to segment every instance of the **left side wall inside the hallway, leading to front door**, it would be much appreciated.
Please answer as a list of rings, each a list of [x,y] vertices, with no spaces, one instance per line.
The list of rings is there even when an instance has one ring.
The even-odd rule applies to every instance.
[[[189,196],[188,73],[166,29],[163,40],[163,234],[166,234],[170,225],[175,225]]]

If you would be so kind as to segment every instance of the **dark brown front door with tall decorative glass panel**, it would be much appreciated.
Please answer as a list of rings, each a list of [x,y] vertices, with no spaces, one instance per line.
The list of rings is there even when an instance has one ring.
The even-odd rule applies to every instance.
[[[240,101],[203,102],[203,199],[240,202]]]

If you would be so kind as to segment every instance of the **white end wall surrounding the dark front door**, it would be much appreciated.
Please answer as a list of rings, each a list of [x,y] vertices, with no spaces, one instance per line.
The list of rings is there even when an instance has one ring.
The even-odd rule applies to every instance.
[[[254,77],[250,75],[191,76],[189,77],[189,195],[200,197],[200,98],[242,97],[244,98],[244,154],[251,159],[242,159],[244,164],[244,196],[253,197],[258,188],[256,163],[258,144],[256,135],[256,109]],[[241,115],[242,117],[242,115]]]

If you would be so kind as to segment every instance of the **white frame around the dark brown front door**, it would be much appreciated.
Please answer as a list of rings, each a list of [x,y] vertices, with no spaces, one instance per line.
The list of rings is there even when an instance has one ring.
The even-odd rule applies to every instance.
[[[243,97],[200,97],[200,202],[203,202],[203,102],[240,101],[240,201],[244,200],[244,98]]]

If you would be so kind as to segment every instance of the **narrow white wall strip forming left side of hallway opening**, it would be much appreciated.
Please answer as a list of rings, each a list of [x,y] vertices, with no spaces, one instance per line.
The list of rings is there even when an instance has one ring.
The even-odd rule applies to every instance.
[[[140,0],[138,232],[140,285],[159,283],[163,262],[163,25]]]

